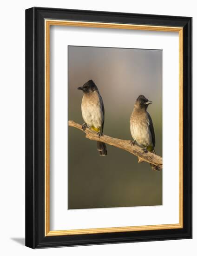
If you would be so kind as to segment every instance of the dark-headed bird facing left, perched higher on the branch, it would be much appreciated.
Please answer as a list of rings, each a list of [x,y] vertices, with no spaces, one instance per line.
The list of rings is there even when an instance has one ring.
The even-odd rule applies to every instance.
[[[96,131],[100,138],[103,135],[105,109],[99,90],[92,80],[87,81],[78,89],[84,93],[81,112],[85,123],[82,125],[82,129],[85,131],[86,127],[88,127]],[[97,150],[100,155],[107,155],[107,147],[104,142],[97,141]]]

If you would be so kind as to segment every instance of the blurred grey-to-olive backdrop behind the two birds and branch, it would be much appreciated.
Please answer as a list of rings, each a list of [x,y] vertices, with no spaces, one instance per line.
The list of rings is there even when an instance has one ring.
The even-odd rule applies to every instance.
[[[162,156],[162,50],[68,47],[68,118],[80,124],[82,92],[92,79],[105,106],[104,134],[131,140],[130,115],[139,94],[148,108]],[[162,171],[138,164],[130,153],[107,145],[99,156],[96,141],[68,130],[68,209],[162,205]]]

